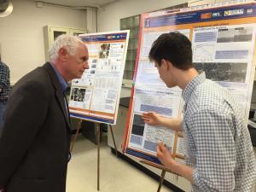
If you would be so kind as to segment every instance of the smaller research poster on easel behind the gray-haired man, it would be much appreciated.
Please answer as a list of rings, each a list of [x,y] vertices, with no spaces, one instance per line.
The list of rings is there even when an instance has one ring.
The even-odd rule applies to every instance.
[[[89,69],[73,79],[70,116],[100,123],[116,123],[125,69],[129,31],[83,34],[89,50]]]

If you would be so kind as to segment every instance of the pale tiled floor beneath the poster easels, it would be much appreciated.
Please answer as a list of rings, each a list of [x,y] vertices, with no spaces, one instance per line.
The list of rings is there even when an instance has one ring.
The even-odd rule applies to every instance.
[[[103,139],[101,146],[100,192],[156,192],[158,182],[110,152]],[[97,148],[79,136],[67,171],[67,192],[96,192]],[[160,192],[170,192],[165,186]]]

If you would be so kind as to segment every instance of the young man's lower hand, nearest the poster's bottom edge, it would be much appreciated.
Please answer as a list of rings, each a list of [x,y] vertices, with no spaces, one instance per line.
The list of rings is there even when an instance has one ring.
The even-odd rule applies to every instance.
[[[173,160],[171,152],[167,150],[164,143],[158,143],[157,157],[160,162],[169,169],[172,169],[173,166],[177,164],[175,160]]]

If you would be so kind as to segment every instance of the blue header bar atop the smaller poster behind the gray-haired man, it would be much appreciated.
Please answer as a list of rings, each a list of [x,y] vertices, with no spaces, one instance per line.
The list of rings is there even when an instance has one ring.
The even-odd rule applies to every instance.
[[[101,42],[101,41],[113,41],[113,40],[125,40],[127,37],[126,32],[111,33],[111,34],[96,34],[90,36],[81,36],[83,42]]]

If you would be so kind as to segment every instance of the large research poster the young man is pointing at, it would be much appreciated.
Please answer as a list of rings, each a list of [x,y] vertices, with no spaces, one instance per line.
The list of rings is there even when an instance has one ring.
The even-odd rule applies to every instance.
[[[247,118],[255,73],[256,3],[216,3],[177,12],[159,11],[141,17],[136,74],[123,150],[144,160],[160,163],[157,143],[166,143],[175,160],[184,163],[183,134],[143,123],[143,112],[182,118],[182,90],[169,89],[160,79],[148,53],[162,33],[181,32],[192,42],[193,63],[207,79],[229,89]]]

